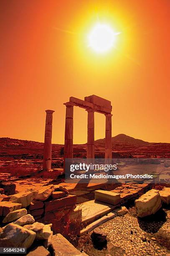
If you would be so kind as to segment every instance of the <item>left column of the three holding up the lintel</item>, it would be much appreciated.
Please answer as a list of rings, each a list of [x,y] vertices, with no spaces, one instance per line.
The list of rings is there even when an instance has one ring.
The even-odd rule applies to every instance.
[[[65,141],[64,141],[64,162],[66,158],[73,158],[73,107],[71,102],[64,103],[66,105],[66,123],[65,123]],[[64,164],[65,172],[65,164]]]

